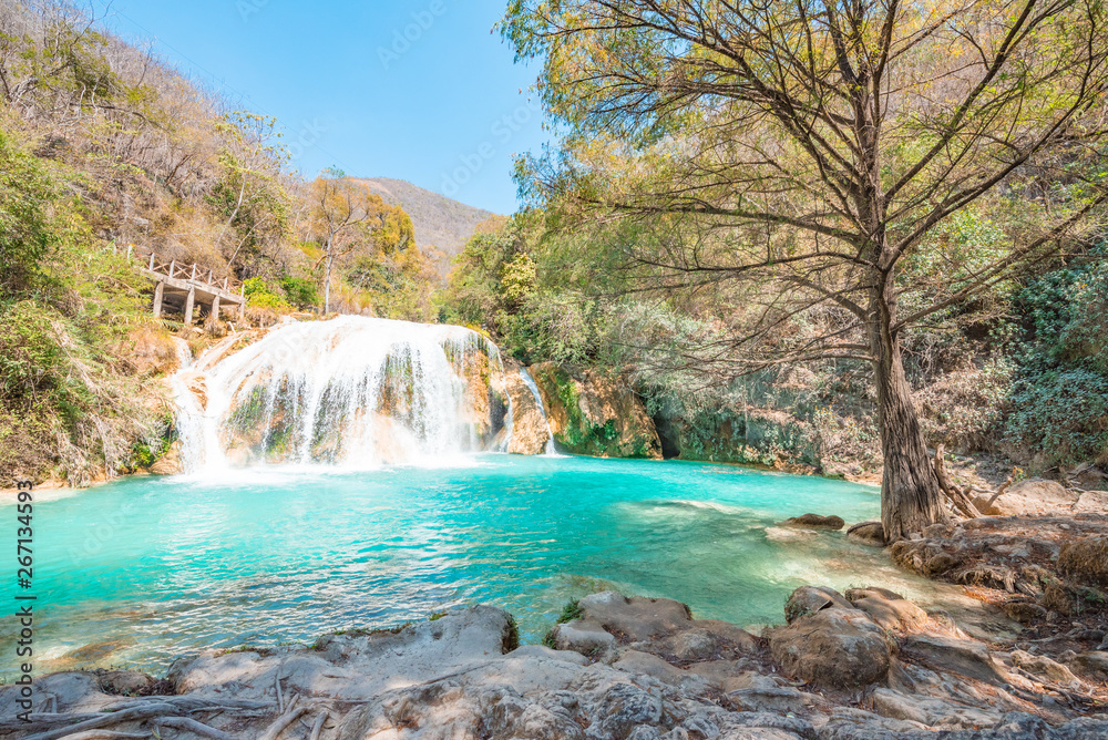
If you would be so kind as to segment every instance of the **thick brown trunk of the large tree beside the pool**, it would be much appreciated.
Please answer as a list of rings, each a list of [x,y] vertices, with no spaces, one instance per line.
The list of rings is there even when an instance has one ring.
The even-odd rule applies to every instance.
[[[900,338],[892,331],[896,302],[891,292],[890,286],[886,295],[874,301],[876,310],[870,328],[884,462],[881,524],[886,543],[947,518],[904,374]]]

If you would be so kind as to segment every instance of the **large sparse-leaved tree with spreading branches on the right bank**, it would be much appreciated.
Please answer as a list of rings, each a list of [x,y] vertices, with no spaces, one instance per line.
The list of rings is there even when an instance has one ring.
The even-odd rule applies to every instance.
[[[678,223],[620,249],[657,286],[747,286],[765,308],[730,342],[746,369],[872,364],[893,541],[946,516],[902,336],[1046,259],[1105,203],[1106,23],[1099,0],[515,0],[502,29],[542,60],[560,137],[523,163],[533,195]],[[1027,218],[995,259],[912,279],[936,230],[1005,197]],[[843,318],[782,338],[820,307]]]

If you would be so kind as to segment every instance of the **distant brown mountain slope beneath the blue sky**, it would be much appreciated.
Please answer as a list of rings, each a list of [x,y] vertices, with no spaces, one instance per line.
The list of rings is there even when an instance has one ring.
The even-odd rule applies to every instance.
[[[403,179],[366,177],[359,182],[369,185],[389,205],[402,207],[416,227],[416,241],[421,247],[437,247],[448,259],[462,250],[478,224],[496,215]]]

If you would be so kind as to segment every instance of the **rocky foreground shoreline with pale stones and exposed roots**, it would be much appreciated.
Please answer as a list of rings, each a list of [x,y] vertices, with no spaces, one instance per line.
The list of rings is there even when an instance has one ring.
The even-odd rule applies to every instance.
[[[605,592],[571,606],[546,645],[517,646],[507,613],[475,606],[310,647],[207,651],[163,680],[55,674],[38,682],[31,724],[16,720],[17,687],[0,691],[0,737],[1108,736],[1108,652],[1067,667],[881,588],[800,588],[788,624],[762,635],[669,599]]]

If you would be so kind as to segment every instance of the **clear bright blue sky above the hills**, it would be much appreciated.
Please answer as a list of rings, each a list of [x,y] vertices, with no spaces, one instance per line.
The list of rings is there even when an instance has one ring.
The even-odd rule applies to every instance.
[[[544,136],[536,69],[490,33],[506,0],[113,0],[105,23],[276,116],[306,176],[407,179],[515,209],[512,160]],[[105,7],[101,0],[100,7]],[[522,90],[522,92],[521,92]]]

